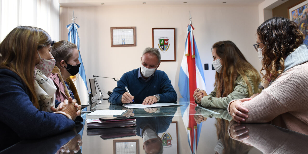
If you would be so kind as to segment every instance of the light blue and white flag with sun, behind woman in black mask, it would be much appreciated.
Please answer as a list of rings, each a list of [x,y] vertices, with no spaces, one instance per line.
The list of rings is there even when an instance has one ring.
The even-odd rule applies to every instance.
[[[74,43],[77,45],[77,49],[79,52],[79,36],[77,29],[80,27],[76,23],[71,23],[66,26],[69,30],[67,35],[67,41]],[[78,95],[81,101],[81,104],[85,105],[87,104],[89,98],[88,98],[88,86],[87,86],[87,79],[86,79],[86,73],[84,71],[81,55],[79,52],[79,58],[78,58],[80,64],[79,72],[78,74],[71,76],[71,79],[74,81],[75,87],[78,91]]]

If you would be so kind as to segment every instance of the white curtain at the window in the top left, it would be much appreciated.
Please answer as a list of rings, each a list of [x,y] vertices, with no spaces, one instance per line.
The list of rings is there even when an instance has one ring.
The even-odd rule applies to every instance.
[[[59,0],[0,0],[1,41],[16,26],[34,26],[59,41]]]

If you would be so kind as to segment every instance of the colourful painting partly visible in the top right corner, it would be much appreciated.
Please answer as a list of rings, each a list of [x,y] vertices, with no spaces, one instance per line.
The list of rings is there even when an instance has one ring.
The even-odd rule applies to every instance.
[[[304,43],[308,45],[308,0],[302,0],[289,7],[289,18],[296,22],[304,34]]]

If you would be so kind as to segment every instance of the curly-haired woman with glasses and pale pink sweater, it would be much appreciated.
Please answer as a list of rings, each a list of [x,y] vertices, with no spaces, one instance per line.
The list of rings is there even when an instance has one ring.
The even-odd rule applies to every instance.
[[[265,88],[255,98],[229,103],[236,122],[266,123],[308,135],[308,49],[290,19],[274,17],[257,29]]]

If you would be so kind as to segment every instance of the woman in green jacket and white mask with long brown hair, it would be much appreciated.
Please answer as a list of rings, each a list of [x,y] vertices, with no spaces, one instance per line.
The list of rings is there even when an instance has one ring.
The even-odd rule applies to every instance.
[[[203,107],[227,110],[233,99],[241,99],[261,92],[258,88],[260,75],[245,59],[231,41],[220,41],[212,47],[213,67],[216,70],[215,89],[207,95],[197,88],[193,94],[195,102]]]

